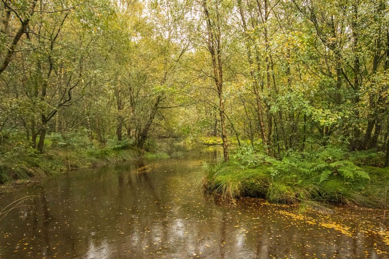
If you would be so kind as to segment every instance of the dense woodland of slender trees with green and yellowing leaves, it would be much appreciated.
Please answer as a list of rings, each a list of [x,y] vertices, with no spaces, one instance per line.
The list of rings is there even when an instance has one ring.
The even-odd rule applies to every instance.
[[[220,136],[389,158],[385,0],[3,0],[0,162]],[[77,138],[74,138],[77,136]]]

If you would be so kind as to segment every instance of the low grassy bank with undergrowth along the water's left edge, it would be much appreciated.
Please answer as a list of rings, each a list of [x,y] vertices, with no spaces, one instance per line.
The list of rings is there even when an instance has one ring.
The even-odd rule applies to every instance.
[[[38,153],[18,136],[2,145],[0,184],[44,177],[76,168],[98,167],[141,156],[161,157],[133,147],[131,141],[109,140],[105,145],[89,139],[84,133],[52,134],[45,141],[45,152]]]

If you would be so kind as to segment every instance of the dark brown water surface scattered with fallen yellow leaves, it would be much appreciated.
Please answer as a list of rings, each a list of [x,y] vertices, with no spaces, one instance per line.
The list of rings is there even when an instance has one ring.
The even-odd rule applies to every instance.
[[[0,258],[389,258],[380,210],[300,213],[204,195],[202,161],[216,155],[77,170],[9,193],[2,207],[40,198],[0,222]]]

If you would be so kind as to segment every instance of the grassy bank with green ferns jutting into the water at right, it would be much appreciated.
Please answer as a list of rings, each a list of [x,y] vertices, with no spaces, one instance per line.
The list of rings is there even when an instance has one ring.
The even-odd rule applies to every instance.
[[[226,199],[251,196],[285,204],[320,201],[387,208],[389,167],[379,167],[383,155],[328,147],[276,160],[245,146],[229,162],[205,164],[204,185]]]

